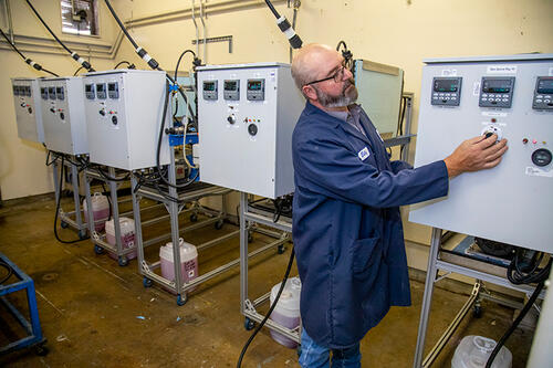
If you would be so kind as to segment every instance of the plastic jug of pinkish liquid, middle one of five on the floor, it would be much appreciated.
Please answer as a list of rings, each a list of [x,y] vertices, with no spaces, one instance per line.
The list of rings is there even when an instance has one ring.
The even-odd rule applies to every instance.
[[[180,275],[182,282],[190,282],[198,277],[198,251],[196,246],[179,239],[180,249]],[[173,242],[159,248],[159,260],[161,263],[161,276],[175,281],[175,266],[173,259]]]

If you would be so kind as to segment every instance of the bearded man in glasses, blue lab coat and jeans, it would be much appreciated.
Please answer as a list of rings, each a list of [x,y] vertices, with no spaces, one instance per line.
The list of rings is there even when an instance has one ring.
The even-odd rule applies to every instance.
[[[507,140],[463,141],[416,169],[389,161],[340,53],[310,44],[292,63],[307,99],[292,138],[293,240],[302,281],[302,367],[359,367],[359,341],[410,305],[399,206],[446,196],[449,178],[497,166]]]

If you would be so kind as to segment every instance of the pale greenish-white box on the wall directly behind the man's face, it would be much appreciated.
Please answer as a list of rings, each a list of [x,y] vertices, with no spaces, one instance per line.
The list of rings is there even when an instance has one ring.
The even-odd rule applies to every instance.
[[[397,136],[399,109],[404,92],[404,71],[368,60],[354,61],[357,103],[384,139]]]

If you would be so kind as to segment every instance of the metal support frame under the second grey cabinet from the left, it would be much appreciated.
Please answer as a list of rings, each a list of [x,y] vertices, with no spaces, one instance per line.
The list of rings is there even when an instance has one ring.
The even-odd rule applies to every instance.
[[[71,161],[75,161],[74,157]],[[74,204],[74,210],[70,212],[65,212],[60,203],[60,214],[59,218],[62,222],[62,224],[66,224],[76,231],[79,231],[79,236],[84,238],[86,235],[86,228],[87,224],[86,222],[83,221],[83,210],[81,209],[81,200],[79,196],[79,169],[76,165],[73,162],[65,160],[64,165],[71,170],[71,185],[73,187],[73,204]],[[60,182],[60,170],[61,168],[59,167],[60,164],[58,162],[58,159],[54,160],[53,162],[53,177],[54,177],[54,191],[55,191],[55,201],[61,200],[59,193],[60,193],[60,186],[62,182]],[[63,188],[61,188],[63,190]],[[64,227],[64,225],[62,225]]]

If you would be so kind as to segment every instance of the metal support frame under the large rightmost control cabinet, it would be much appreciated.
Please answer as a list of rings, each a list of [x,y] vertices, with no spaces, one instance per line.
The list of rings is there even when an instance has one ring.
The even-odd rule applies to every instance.
[[[513,301],[509,301],[503,297],[491,296],[489,295],[489,293],[482,293],[482,290],[484,290],[483,282],[489,282],[491,284],[500,285],[513,291],[524,293],[526,295],[532,294],[534,291],[534,287],[529,285],[511,284],[505,277],[500,277],[482,271],[473,270],[469,266],[461,266],[451,262],[447,262],[445,260],[440,260],[440,245],[441,245],[441,229],[432,228],[430,253],[428,256],[428,267],[427,267],[426,283],[425,283],[425,294],[422,297],[422,306],[420,309],[420,322],[417,335],[417,348],[415,350],[415,358],[413,365],[414,368],[420,368],[420,367],[427,368],[432,365],[432,362],[436,360],[440,351],[446,346],[449,338],[459,327],[462,318],[465,318],[465,316],[468,314],[468,312],[472,306],[479,305],[480,298],[487,298],[511,307],[520,306],[519,303],[514,303]],[[481,261],[474,260],[473,262],[480,263]],[[438,276],[439,271],[446,271],[449,273],[466,275],[476,278],[476,283],[468,301],[461,307],[461,309],[456,315],[451,324],[446,328],[446,332],[441,335],[441,337],[438,339],[432,349],[430,349],[428,355],[424,357],[426,333],[428,329],[428,318],[430,315],[430,306],[434,294],[434,284],[444,278]],[[540,297],[543,298],[544,295],[545,293],[542,292],[540,294]]]

